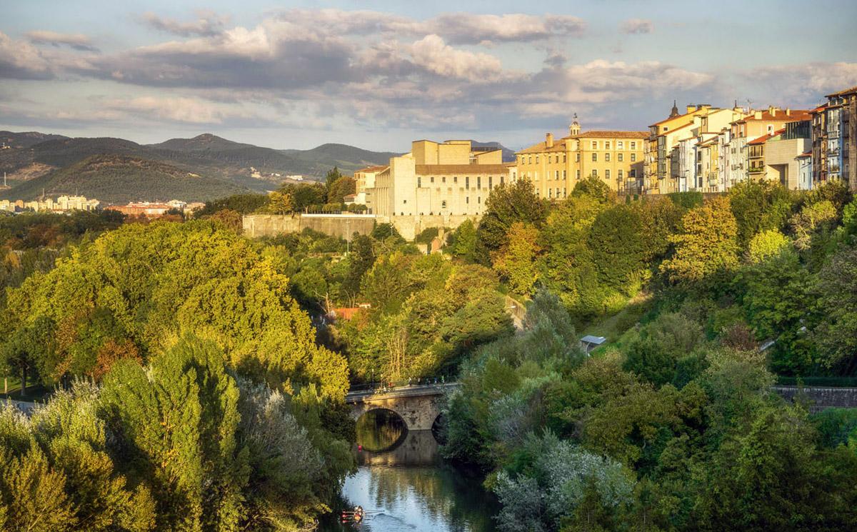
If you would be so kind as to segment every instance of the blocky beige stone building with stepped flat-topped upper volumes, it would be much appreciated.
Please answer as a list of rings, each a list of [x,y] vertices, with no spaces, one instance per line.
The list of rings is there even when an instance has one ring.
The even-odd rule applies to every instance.
[[[470,140],[415,140],[411,152],[390,158],[365,188],[369,212],[381,219],[402,216],[478,217],[494,187],[514,179],[514,164],[502,152]]]

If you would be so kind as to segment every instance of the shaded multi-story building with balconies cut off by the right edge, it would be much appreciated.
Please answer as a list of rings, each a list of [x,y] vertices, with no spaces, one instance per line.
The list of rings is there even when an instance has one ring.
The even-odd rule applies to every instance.
[[[826,98],[813,110],[813,180],[842,180],[857,190],[857,87]]]

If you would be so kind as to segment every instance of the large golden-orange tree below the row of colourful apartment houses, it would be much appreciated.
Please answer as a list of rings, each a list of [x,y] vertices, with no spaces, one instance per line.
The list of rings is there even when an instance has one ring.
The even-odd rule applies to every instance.
[[[661,271],[674,282],[701,281],[738,264],[737,225],[728,198],[716,198],[688,211],[681,232],[670,238],[674,255]]]

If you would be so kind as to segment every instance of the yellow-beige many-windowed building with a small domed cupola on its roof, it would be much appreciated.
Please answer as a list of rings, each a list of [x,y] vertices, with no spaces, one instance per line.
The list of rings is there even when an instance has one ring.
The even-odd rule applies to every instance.
[[[568,135],[545,140],[516,153],[518,176],[528,179],[536,194],[562,199],[583,178],[596,176],[619,193],[640,192],[643,183],[645,131],[580,132],[575,120]]]

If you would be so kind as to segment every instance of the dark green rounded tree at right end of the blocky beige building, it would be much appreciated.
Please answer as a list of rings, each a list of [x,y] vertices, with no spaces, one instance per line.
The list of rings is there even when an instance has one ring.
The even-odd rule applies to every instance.
[[[515,222],[531,224],[537,229],[547,216],[548,201],[536,195],[528,180],[519,179],[494,187],[485,200],[485,212],[476,229],[476,260],[488,266],[491,254],[506,244],[509,229]]]

